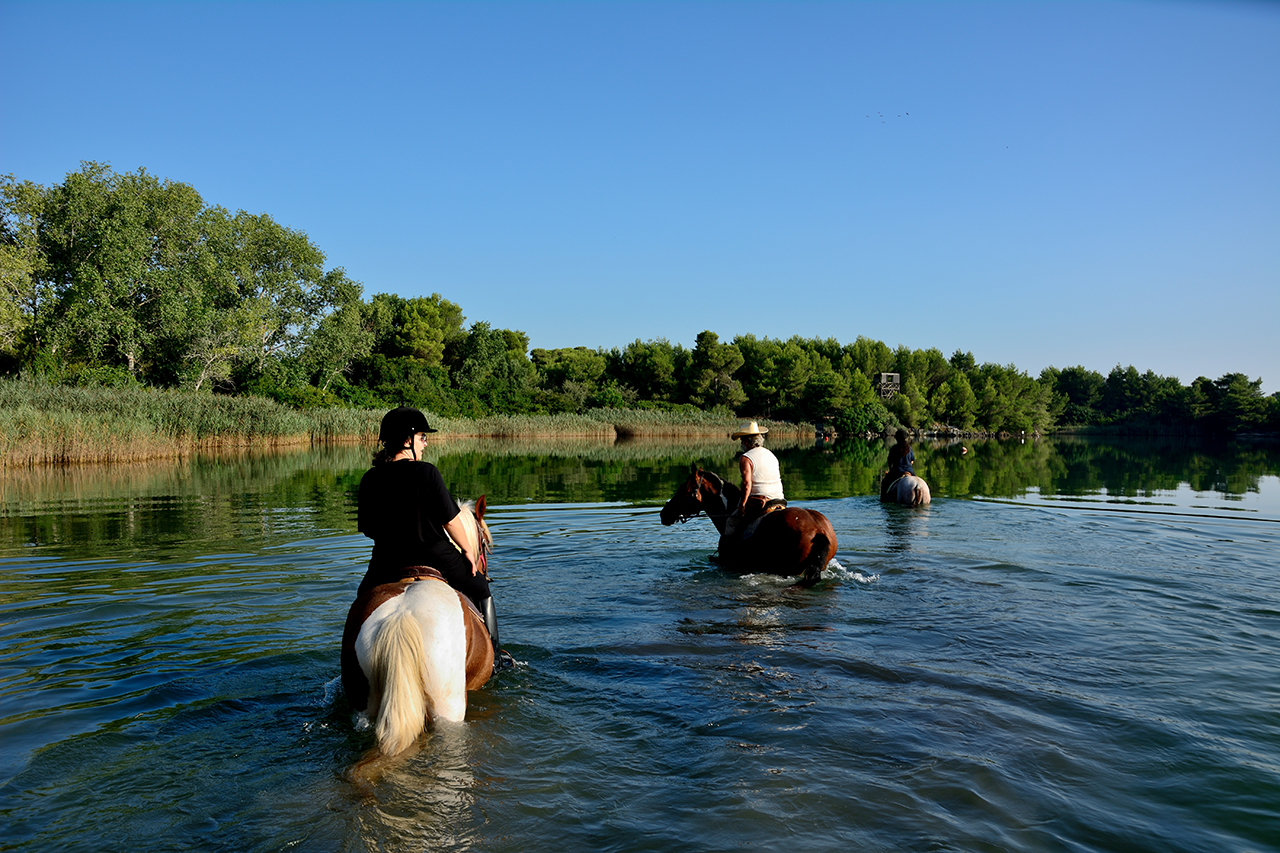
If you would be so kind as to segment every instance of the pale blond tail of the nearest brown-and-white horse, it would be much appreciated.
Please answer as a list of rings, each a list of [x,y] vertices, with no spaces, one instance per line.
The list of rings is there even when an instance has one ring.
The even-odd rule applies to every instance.
[[[426,729],[422,628],[413,612],[402,607],[388,616],[370,652],[370,693],[379,697],[374,731],[383,753],[394,756],[408,749]]]

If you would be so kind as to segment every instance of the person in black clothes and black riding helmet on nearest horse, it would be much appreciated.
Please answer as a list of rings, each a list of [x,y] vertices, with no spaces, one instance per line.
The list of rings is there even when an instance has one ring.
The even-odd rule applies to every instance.
[[[506,669],[513,661],[498,647],[498,612],[484,555],[479,544],[475,552],[467,544],[461,510],[439,469],[422,460],[426,435],[434,432],[417,409],[404,406],[383,416],[378,430],[383,447],[360,479],[357,528],[374,540],[374,552],[357,594],[412,576],[406,571],[411,566],[430,566],[475,602],[493,640],[494,669]]]

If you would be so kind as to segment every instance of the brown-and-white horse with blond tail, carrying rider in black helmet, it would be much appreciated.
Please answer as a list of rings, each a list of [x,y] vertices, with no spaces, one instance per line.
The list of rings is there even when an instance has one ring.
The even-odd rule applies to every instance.
[[[485,500],[460,507],[484,565],[493,548]],[[493,643],[480,611],[434,569],[406,569],[403,580],[358,596],[347,613],[342,685],[352,710],[374,722],[385,756],[408,749],[431,719],[460,722],[467,690],[490,675]]]

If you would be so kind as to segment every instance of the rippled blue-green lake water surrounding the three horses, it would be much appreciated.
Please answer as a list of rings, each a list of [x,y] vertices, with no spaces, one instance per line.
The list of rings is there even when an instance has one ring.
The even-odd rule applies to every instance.
[[[367,451],[0,473],[0,849],[1280,849],[1276,446],[776,446],[808,590],[659,524],[730,442],[438,446],[520,666],[371,789]]]

